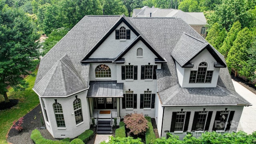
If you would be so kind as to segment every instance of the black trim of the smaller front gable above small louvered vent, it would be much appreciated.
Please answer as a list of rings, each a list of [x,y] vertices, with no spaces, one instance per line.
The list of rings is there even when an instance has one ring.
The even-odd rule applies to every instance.
[[[142,36],[138,36],[129,46],[126,47],[126,49],[124,49],[124,51],[122,51],[114,60],[114,62],[118,62],[122,59],[122,57],[135,45],[137,44],[139,41],[142,41],[150,50],[151,52],[153,52],[157,58],[158,58],[158,62],[166,62],[166,60],[164,58],[162,58],[162,56],[160,56],[160,54],[158,54],[158,52],[156,52],[156,50],[149,44],[149,42],[147,42],[147,40],[145,40]]]

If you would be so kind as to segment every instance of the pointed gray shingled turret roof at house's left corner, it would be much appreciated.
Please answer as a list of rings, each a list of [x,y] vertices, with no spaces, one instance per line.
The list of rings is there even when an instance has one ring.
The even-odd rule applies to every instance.
[[[33,88],[41,97],[67,97],[85,89],[86,85],[67,54]]]

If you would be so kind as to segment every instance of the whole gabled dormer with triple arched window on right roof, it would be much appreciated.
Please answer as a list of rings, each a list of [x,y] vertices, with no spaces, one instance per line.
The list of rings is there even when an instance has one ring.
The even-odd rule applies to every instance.
[[[184,33],[171,53],[178,80],[184,88],[216,87],[220,68],[226,64],[206,41]]]

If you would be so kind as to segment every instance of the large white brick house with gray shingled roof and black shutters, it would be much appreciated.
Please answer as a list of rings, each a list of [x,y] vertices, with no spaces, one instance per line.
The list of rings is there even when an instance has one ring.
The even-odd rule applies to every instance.
[[[223,56],[180,18],[85,16],[42,58],[33,90],[54,138],[132,112],[155,118],[160,136],[235,131],[251,105]]]

